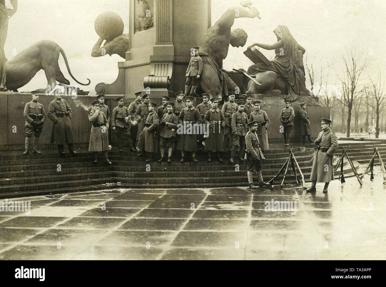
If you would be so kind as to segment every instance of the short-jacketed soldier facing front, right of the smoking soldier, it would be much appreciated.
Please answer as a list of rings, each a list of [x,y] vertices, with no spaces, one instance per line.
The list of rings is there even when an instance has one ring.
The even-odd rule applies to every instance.
[[[118,102],[118,106],[113,109],[111,125],[112,129],[115,130],[119,151],[122,152],[127,142],[129,142],[129,147],[133,145],[130,134],[131,122],[129,111],[123,105],[123,97],[118,97],[115,101]]]

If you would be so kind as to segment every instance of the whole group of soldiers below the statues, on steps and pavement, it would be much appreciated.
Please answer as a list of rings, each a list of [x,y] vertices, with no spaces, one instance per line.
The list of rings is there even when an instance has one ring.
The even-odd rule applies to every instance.
[[[187,152],[190,152],[192,160],[197,162],[196,152],[198,147],[203,145],[203,149],[208,152],[207,161],[212,161],[212,155],[218,161],[222,161],[220,152],[223,152],[225,147],[229,146],[230,163],[234,163],[236,154],[238,154],[240,161],[247,161],[247,176],[250,188],[256,188],[252,179],[254,171],[256,171],[259,179],[259,186],[270,186],[269,183],[264,182],[261,174],[261,160],[264,159],[263,151],[269,149],[267,130],[270,126],[267,113],[261,110],[261,101],[252,103],[252,96],[247,95],[246,102],[239,101],[235,103],[235,93],[229,92],[229,101],[223,104],[222,109],[219,109],[219,99],[212,97],[209,102],[210,95],[204,93],[202,94],[203,102],[195,108],[193,106],[194,97],[185,96],[185,101],[183,101],[184,94],[179,91],[175,94],[176,100],[174,102],[170,101],[168,96],[163,96],[163,104],[157,108],[155,102],[149,101],[148,94],[137,92],[135,96],[136,99],[127,107],[124,106],[124,97],[118,97],[116,99],[118,106],[113,109],[112,113],[110,113],[108,106],[104,104],[105,95],[103,94],[97,95],[97,100],[91,103],[93,107],[88,119],[92,127],[88,150],[94,152],[94,162],[98,162],[98,152],[103,152],[105,162],[112,164],[108,159],[108,132],[111,123],[111,130],[115,132],[116,145],[120,152],[128,144],[133,152],[139,152],[138,156],[147,155],[146,162],[154,161],[158,151],[161,153],[159,162],[162,162],[166,157],[168,162],[171,162],[173,151],[180,150],[181,162],[186,160]],[[29,153],[32,135],[34,135],[32,151],[35,154],[41,154],[37,150],[37,144],[46,116],[53,122],[51,143],[58,145],[59,154],[64,154],[64,144],[68,145],[71,154],[76,154],[73,147],[74,138],[71,127],[72,111],[68,103],[60,94],[57,94],[49,104],[46,114],[43,105],[38,100],[39,91],[33,91],[32,101],[27,102],[25,105],[26,138],[23,154]],[[281,111],[279,119],[284,128],[284,145],[288,146],[295,114],[293,108],[289,106],[289,101],[285,101],[285,105],[286,107]],[[305,103],[302,103],[300,116],[301,124],[304,127],[302,127],[301,134],[303,135],[303,141],[311,141],[312,131],[305,108]],[[182,133],[177,132],[179,124],[194,125],[197,123],[209,126],[205,137],[203,134],[187,133],[185,130]],[[314,161],[312,169],[313,184],[307,191],[315,191],[317,181],[327,182],[327,179],[330,178],[330,173],[328,176],[317,176],[322,163],[332,165],[332,156],[330,154],[333,154],[337,148],[336,136],[334,132],[329,130],[330,123],[330,120],[322,119],[323,131],[319,134],[315,144],[320,147],[317,155],[319,155],[319,152],[324,152],[327,155],[321,154],[319,155],[321,159]],[[306,136],[308,136],[308,140],[305,139]],[[199,145],[197,145],[197,142]],[[332,167],[330,170],[332,170]],[[327,186],[328,182],[323,192],[327,192]]]

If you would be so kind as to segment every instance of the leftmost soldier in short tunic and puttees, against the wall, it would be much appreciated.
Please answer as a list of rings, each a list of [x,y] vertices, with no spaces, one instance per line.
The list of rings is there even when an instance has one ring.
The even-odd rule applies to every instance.
[[[38,102],[39,91],[32,91],[32,101],[27,102],[24,107],[25,118],[25,151],[24,155],[28,154],[28,148],[31,141],[32,134],[34,134],[34,140],[32,142],[34,154],[41,154],[42,152],[37,150],[37,144],[39,143],[39,137],[42,133],[43,123],[46,120],[46,112],[43,105]]]

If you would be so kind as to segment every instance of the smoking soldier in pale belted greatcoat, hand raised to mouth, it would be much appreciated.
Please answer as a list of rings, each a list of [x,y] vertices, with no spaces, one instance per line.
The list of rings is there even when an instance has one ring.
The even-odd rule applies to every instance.
[[[100,109],[101,103],[99,100],[93,101],[91,103],[93,108],[88,114],[88,120],[92,123],[91,133],[90,133],[90,144],[88,145],[88,151],[94,152],[95,160],[98,162],[98,152],[103,152],[105,156],[105,161],[107,164],[111,164],[111,161],[108,160],[108,119]],[[102,103],[103,104],[103,103]]]

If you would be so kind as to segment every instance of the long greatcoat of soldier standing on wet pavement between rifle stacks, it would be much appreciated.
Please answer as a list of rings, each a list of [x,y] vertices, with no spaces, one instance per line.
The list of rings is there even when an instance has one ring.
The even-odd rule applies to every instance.
[[[322,138],[322,141],[319,143],[320,138]],[[334,180],[332,160],[334,152],[338,148],[338,138],[335,133],[328,128],[325,132],[322,131],[319,133],[318,138],[315,140],[315,144],[318,143],[320,147],[328,147],[328,150],[327,152],[316,150],[312,159],[313,162],[310,179],[316,180],[317,182],[330,182]]]

